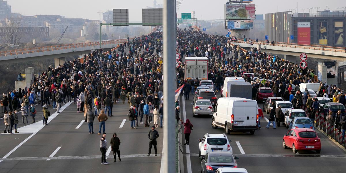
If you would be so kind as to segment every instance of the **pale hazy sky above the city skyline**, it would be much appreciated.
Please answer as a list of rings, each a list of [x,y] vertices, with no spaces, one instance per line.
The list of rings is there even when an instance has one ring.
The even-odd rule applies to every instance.
[[[12,12],[22,15],[62,15],[67,18],[99,19],[98,11],[112,10],[113,8],[128,8],[130,21],[142,21],[142,8],[153,6],[153,0],[7,0]],[[228,0],[183,0],[181,12],[195,11],[196,18],[220,19],[224,18],[224,4]],[[163,0],[157,0],[163,3]],[[277,11],[298,9],[298,12],[308,12],[311,7],[320,7],[318,10],[338,10],[337,7],[346,7],[345,0],[253,0],[256,14],[265,14]],[[297,8],[298,3],[298,8]],[[339,9],[340,10],[340,9]],[[344,10],[344,8],[342,9]],[[293,10],[292,10],[293,11]],[[317,9],[316,9],[317,11]],[[102,19],[102,15],[101,15]]]

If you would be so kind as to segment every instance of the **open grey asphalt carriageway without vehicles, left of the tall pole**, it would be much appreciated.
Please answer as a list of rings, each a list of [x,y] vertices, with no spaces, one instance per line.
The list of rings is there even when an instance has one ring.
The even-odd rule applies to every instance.
[[[89,135],[88,124],[86,122],[83,122],[76,129],[81,121],[84,120],[83,113],[77,113],[76,104],[66,104],[66,108],[60,111],[61,113],[54,113],[52,115],[56,115],[54,119],[52,119],[52,116],[50,117],[52,120],[50,122],[48,120],[48,126],[43,126],[43,122],[40,121],[42,120],[42,116],[40,116],[42,115],[42,109],[39,105],[36,106],[38,110],[36,124],[21,124],[21,115],[19,113],[19,127],[22,127],[18,128],[19,134],[0,135],[0,161],[2,160],[0,162],[0,173],[85,173],[114,172],[115,170],[133,173],[160,172],[163,130],[157,129],[161,135],[157,141],[158,156],[154,156],[154,148],[152,148],[152,156],[147,157],[149,144],[147,134],[151,128],[144,127],[144,124],[138,124],[139,127],[137,129],[130,128],[130,121],[128,121],[127,117],[128,103],[114,104],[112,111],[114,117],[110,117],[106,121],[108,147],[114,132],[117,133],[121,141],[121,162],[117,159],[117,163],[113,163],[113,153],[110,152],[107,158],[107,162],[110,163],[109,165],[100,164],[101,152],[99,141],[101,135],[97,135],[99,129],[97,119],[95,118],[96,121],[93,124],[94,134]],[[49,110],[52,114],[52,107],[49,107]],[[123,121],[124,124],[121,127]],[[29,126],[35,127],[27,128]],[[3,129],[4,125],[1,124],[0,128]],[[23,134],[24,131],[28,134]],[[18,147],[18,145],[20,146]],[[55,152],[58,147],[60,149]],[[12,149],[13,151],[11,151]],[[55,154],[49,157],[54,152]],[[8,155],[8,153],[10,154]],[[49,158],[51,160],[47,161]]]

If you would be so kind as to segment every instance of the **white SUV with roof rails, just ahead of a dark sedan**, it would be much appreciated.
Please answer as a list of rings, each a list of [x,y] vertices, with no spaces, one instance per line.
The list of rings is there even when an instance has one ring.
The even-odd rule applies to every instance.
[[[225,134],[205,134],[203,139],[199,139],[199,157],[202,158],[209,152],[230,152],[233,153]]]

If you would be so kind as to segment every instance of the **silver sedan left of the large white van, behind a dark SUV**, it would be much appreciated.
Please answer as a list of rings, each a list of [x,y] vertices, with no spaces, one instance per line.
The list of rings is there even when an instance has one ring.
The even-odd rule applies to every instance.
[[[211,106],[210,100],[198,99],[192,106],[192,115],[196,117],[197,115],[209,115],[212,116],[214,112]]]

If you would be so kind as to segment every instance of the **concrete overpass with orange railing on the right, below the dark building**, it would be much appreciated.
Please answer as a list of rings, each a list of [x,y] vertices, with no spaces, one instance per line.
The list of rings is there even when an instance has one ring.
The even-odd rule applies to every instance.
[[[265,41],[249,42],[244,41],[233,41],[230,40],[228,43],[231,45],[239,44],[240,47],[256,47],[261,49],[262,52],[267,52],[272,55],[280,54],[285,55],[285,59],[299,63],[299,55],[301,53],[307,54],[311,58],[345,61],[346,51],[341,47],[330,47],[330,46],[319,46],[319,45],[304,45],[304,44],[292,44],[292,43],[275,43],[267,44]]]

